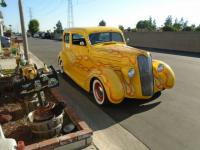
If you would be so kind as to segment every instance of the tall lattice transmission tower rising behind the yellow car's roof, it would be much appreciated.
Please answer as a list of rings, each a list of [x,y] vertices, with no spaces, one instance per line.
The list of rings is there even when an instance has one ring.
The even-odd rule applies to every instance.
[[[72,0],[68,0],[68,14],[67,14],[67,27],[74,26],[74,15],[73,15],[73,3]]]

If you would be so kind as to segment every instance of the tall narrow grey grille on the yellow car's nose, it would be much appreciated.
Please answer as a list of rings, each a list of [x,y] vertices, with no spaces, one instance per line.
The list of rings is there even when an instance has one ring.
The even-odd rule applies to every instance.
[[[153,95],[153,69],[151,56],[140,55],[137,58],[143,96]]]

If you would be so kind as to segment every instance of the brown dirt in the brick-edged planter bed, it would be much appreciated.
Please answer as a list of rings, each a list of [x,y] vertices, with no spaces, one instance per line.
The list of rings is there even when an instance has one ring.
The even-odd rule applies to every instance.
[[[12,95],[12,94],[11,94]],[[25,100],[13,96],[4,95],[0,103],[0,121],[6,138],[13,138],[16,141],[24,141],[25,145],[40,142],[45,139],[35,137],[27,123],[27,113],[25,108]],[[55,102],[55,98],[49,90],[45,90],[45,97],[48,101]],[[1,116],[3,116],[1,118]],[[6,121],[5,121],[6,120]],[[69,117],[64,115],[64,123],[71,123]],[[75,129],[76,130],[76,129]],[[62,131],[59,135],[63,135]]]

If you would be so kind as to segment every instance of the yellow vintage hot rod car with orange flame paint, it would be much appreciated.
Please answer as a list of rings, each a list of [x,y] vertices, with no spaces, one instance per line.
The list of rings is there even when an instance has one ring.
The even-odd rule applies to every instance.
[[[91,91],[99,105],[118,104],[124,98],[149,99],[175,82],[166,63],[127,46],[117,28],[66,29],[58,64],[62,73]]]

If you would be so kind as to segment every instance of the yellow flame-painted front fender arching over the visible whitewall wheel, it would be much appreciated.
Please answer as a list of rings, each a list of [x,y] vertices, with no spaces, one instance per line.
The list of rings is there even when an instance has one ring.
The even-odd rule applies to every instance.
[[[117,76],[117,74],[111,68],[100,68],[94,69],[89,76],[89,82],[91,83],[92,79],[97,78],[99,79],[105,90],[108,97],[108,100],[111,103],[118,104],[123,101],[124,99],[124,88],[122,83]],[[88,85],[88,88],[90,84]]]

